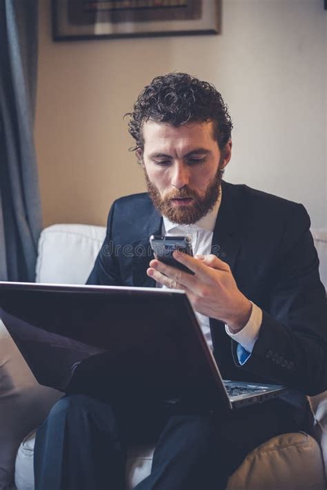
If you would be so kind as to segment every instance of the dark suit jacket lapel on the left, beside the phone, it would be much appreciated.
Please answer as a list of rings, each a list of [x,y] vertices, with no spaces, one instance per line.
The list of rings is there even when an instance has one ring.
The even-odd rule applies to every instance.
[[[139,240],[132,243],[132,283],[143,288],[155,288],[155,280],[146,274],[149,262],[154,258],[150,247],[150,236],[161,235],[162,218],[153,207]]]

